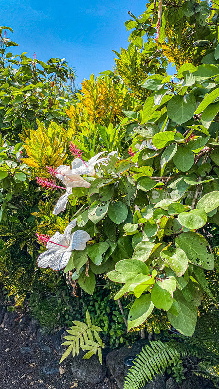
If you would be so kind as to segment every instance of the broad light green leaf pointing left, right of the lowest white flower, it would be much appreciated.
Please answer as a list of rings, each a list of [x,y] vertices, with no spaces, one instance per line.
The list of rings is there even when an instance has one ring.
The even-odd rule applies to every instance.
[[[143,283],[151,278],[147,265],[138,259],[123,259],[117,262],[115,270],[107,273],[117,283]]]

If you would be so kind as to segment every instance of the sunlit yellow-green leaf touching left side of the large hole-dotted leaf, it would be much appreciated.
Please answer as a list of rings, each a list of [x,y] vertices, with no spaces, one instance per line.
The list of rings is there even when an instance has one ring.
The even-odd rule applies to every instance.
[[[176,273],[177,277],[181,277],[188,267],[188,258],[181,248],[163,250],[160,256]]]

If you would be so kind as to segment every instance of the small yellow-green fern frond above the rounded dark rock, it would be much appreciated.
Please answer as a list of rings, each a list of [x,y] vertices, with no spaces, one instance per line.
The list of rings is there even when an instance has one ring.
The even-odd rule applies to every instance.
[[[97,333],[97,331],[100,332],[102,329],[92,325],[91,316],[88,311],[86,312],[86,322],[87,324],[78,320],[74,320],[74,325],[70,327],[70,330],[67,330],[70,335],[64,336],[67,341],[62,343],[62,345],[69,347],[62,355],[59,363],[67,358],[71,352],[73,357],[75,354],[78,355],[81,348],[83,351],[89,350],[88,353],[84,355],[84,359],[89,359],[93,354],[98,354],[100,363],[102,364],[101,348],[104,348],[104,343]],[[94,341],[93,336],[96,341]]]

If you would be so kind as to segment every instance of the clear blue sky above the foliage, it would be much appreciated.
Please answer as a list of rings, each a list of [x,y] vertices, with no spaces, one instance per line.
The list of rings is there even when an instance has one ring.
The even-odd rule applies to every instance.
[[[13,53],[27,52],[47,61],[66,58],[76,69],[76,84],[91,73],[111,69],[120,47],[128,47],[124,22],[128,11],[138,16],[146,0],[7,0],[0,3],[1,24],[19,44]]]

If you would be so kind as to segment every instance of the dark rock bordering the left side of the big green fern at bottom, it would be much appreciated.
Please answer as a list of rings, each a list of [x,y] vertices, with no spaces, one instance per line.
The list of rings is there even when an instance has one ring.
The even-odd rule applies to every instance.
[[[124,364],[125,358],[130,356],[136,356],[137,354],[139,354],[142,351],[142,347],[144,347],[147,343],[148,341],[146,339],[139,340],[135,342],[131,347],[129,346],[129,348],[128,346],[125,346],[121,349],[115,349],[107,355],[107,366],[120,389],[123,389],[125,376],[128,373],[128,369],[130,369]]]

